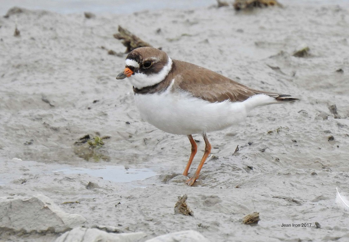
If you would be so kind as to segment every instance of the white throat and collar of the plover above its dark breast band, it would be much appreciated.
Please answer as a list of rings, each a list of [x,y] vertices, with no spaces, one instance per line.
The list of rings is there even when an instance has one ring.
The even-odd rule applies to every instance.
[[[127,61],[127,60],[126,60]],[[172,59],[169,57],[167,64],[162,68],[160,72],[157,74],[143,74],[139,72],[135,72],[134,74],[129,77],[129,80],[131,81],[131,84],[136,88],[143,88],[146,86],[153,86],[167,76],[167,74],[171,71],[172,68]]]

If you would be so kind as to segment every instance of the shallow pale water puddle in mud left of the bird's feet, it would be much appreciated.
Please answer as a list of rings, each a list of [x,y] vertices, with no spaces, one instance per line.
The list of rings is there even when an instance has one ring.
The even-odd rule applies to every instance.
[[[87,174],[94,177],[102,177],[111,182],[134,182],[155,176],[156,173],[146,168],[125,168],[121,165],[94,166],[90,168],[63,168],[55,172],[64,174]]]

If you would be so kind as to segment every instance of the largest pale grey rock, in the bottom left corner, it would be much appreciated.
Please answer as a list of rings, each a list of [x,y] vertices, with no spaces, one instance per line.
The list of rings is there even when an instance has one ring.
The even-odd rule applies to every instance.
[[[0,229],[27,233],[61,233],[86,222],[79,214],[63,212],[42,194],[0,198],[0,218]]]

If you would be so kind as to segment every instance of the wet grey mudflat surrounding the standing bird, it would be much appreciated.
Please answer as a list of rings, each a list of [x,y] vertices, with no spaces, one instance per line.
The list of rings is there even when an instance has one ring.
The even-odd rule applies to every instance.
[[[19,37],[13,36],[15,22]],[[126,55],[107,50],[125,50],[112,36],[119,24],[173,59],[300,101],[257,108],[244,123],[209,133],[213,156],[188,187],[180,175],[190,155],[187,137],[142,122],[131,85],[115,79]],[[1,197],[42,193],[64,211],[83,215],[87,227],[152,236],[194,229],[218,242],[349,240],[348,212],[335,204],[336,187],[349,192],[348,8],[295,5],[236,13],[206,7],[94,19],[25,10],[0,18],[0,26]],[[310,55],[291,56],[303,44]],[[334,104],[337,115],[328,108]],[[95,132],[111,138],[87,162],[74,142]],[[200,135],[194,138],[201,142],[190,174],[204,148]],[[105,175],[94,172],[103,169]],[[125,182],[114,177],[115,169]],[[139,176],[128,177],[127,169]],[[89,182],[99,188],[86,189]],[[183,194],[194,217],[174,215]],[[76,200],[80,204],[62,204]],[[260,213],[258,226],[243,225],[252,212]]]

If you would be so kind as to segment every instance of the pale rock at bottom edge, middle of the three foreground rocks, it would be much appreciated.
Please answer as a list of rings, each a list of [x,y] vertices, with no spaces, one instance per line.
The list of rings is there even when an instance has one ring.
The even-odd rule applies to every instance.
[[[55,240],[55,242],[143,242],[148,235],[142,232],[114,234],[99,229],[74,228]]]

